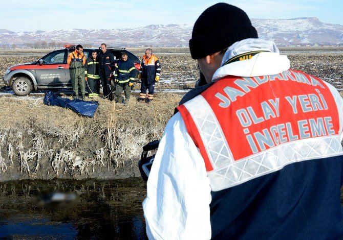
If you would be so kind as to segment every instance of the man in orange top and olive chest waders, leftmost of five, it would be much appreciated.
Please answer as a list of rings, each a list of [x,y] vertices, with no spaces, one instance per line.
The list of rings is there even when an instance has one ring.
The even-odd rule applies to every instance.
[[[67,64],[69,65],[69,74],[72,80],[74,99],[79,98],[79,88],[84,101],[85,79],[84,79],[84,64],[85,56],[83,47],[78,44],[74,52],[68,55]]]

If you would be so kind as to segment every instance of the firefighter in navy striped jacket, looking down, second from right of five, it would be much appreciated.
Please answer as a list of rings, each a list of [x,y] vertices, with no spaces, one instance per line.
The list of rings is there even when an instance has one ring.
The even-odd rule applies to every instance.
[[[116,102],[127,103],[130,99],[131,88],[134,85],[136,76],[134,63],[127,58],[126,53],[121,54],[121,59],[115,65],[115,82],[116,82]],[[121,92],[125,92],[125,100],[121,97]]]

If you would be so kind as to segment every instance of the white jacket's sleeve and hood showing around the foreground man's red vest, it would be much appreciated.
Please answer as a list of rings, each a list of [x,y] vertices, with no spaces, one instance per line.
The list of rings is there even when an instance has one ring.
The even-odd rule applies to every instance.
[[[227,75],[254,77],[289,69],[288,58],[279,54],[273,42],[262,39],[234,43],[222,64],[234,56],[257,50],[268,52],[220,67],[212,82]],[[165,127],[147,181],[143,210],[149,239],[210,239],[210,193],[204,160],[187,133],[181,114],[177,113]]]

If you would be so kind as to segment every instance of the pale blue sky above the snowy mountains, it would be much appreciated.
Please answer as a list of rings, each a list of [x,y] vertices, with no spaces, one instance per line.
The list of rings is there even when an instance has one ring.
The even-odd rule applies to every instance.
[[[318,17],[343,25],[342,0],[233,0],[250,18]],[[218,1],[7,0],[1,3],[0,29],[14,32],[60,29],[117,29],[151,24],[193,24]]]

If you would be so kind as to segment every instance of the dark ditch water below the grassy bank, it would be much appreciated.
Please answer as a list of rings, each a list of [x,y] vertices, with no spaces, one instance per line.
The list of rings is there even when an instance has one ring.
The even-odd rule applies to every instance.
[[[0,238],[147,239],[146,186],[123,180],[0,183]]]

